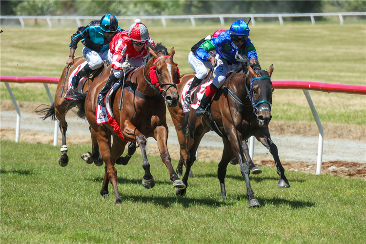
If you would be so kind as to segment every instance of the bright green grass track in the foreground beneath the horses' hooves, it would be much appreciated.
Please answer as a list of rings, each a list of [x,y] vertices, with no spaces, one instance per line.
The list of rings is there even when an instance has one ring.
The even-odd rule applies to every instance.
[[[86,152],[89,146],[70,145]],[[20,153],[24,152],[24,153]],[[196,162],[187,195],[176,197],[160,158],[148,157],[156,186],[143,188],[141,155],[117,166],[122,204],[103,199],[103,168],[59,149],[0,141],[0,243],[365,243],[366,182],[274,168],[251,176],[261,208],[247,207],[239,167],[229,165],[221,200],[216,163]],[[172,162],[177,165],[177,161]]]

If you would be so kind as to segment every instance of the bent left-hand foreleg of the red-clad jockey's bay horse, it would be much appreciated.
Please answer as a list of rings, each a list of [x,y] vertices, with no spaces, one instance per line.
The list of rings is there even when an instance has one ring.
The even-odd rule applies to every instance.
[[[155,181],[150,173],[150,164],[147,160],[146,155],[146,137],[130,122],[124,121],[123,123],[123,138],[126,141],[136,141],[140,146],[142,154],[142,168],[145,170],[145,174],[142,177],[142,185],[146,189],[153,188],[155,186]]]

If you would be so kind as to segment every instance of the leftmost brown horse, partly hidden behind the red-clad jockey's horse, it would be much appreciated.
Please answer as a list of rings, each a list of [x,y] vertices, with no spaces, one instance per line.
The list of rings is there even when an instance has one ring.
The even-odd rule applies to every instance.
[[[67,89],[68,89],[68,80],[70,78],[70,75],[73,73],[73,71],[78,68],[79,65],[81,65],[83,62],[85,62],[85,59],[83,57],[76,58],[73,65],[71,65],[69,68],[64,68],[62,71],[61,78],[59,80],[59,83],[57,85],[57,90],[55,94],[55,102],[51,104],[51,106],[48,105],[41,105],[45,106],[46,108],[37,108],[36,113],[43,115],[42,120],[45,120],[47,118],[51,118],[51,120],[56,121],[59,120],[59,127],[62,135],[62,146],[61,146],[61,156],[59,158],[59,164],[62,167],[65,167],[68,162],[69,158],[67,156],[67,145],[66,145],[66,131],[67,131],[67,122],[66,122],[66,113],[73,108],[71,104],[68,102],[67,99],[64,98]],[[81,67],[82,68],[82,67]],[[96,69],[91,74],[88,75],[87,80],[85,81],[84,85],[82,86],[82,92],[86,93],[89,90],[89,86],[91,83],[98,77],[101,77],[102,75],[109,74],[111,71],[111,65],[103,65],[101,68]],[[66,86],[66,87],[65,87]],[[40,107],[41,107],[40,106]],[[102,160],[95,161],[94,162],[97,166],[101,166],[103,164]]]

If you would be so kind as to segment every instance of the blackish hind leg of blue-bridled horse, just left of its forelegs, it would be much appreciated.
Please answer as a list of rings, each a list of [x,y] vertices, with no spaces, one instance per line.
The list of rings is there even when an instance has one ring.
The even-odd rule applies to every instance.
[[[224,142],[224,151],[223,156],[221,158],[221,161],[219,163],[219,167],[217,168],[217,177],[220,181],[220,187],[221,187],[221,197],[223,199],[226,198],[226,190],[225,190],[225,176],[226,176],[226,168],[227,164],[230,162],[230,160],[233,157],[233,150],[231,149],[231,145],[229,140],[223,139]]]

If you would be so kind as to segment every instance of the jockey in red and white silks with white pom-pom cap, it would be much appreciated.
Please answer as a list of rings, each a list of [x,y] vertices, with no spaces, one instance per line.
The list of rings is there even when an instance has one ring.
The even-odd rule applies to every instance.
[[[109,43],[108,58],[112,64],[113,74],[109,76],[98,95],[99,105],[105,106],[104,97],[112,85],[124,75],[123,69],[129,70],[131,65],[134,67],[142,65],[142,59],[149,53],[148,42],[155,47],[146,25],[140,19],[136,19],[128,31],[118,33]],[[126,55],[128,62],[125,61]]]

